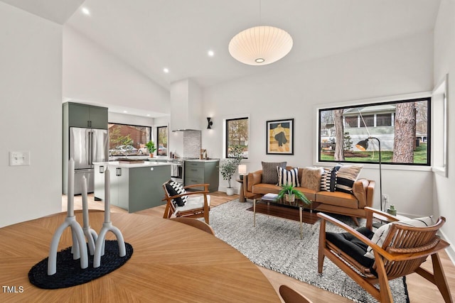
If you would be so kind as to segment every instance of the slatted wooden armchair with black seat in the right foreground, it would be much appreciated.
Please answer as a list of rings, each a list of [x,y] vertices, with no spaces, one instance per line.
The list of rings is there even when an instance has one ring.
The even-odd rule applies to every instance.
[[[436,235],[446,219],[441,216],[437,219],[436,224],[427,227],[391,224],[385,241],[382,246],[378,246],[370,240],[373,234],[371,232],[373,230],[373,214],[379,214],[387,218],[387,221],[398,221],[398,219],[370,207],[365,207],[365,210],[367,214],[366,226],[365,228],[358,228],[358,230],[333,219],[331,216],[323,213],[318,214],[322,219],[319,231],[318,271],[322,273],[323,260],[327,256],[379,302],[393,302],[388,280],[417,272],[438,287],[445,302],[453,302],[438,255],[440,250],[449,246],[449,243]],[[347,232],[336,235],[343,235],[343,238],[356,241],[357,246],[359,243],[360,245],[363,243],[365,251],[368,246],[373,248],[375,258],[370,259],[371,265],[365,265],[365,260],[362,260],[361,256],[359,258],[353,251],[349,251],[345,243],[335,241],[336,238],[331,233],[326,234],[326,221],[343,228]],[[328,238],[333,240],[329,241]],[[420,267],[429,255],[432,256],[433,273]],[[375,285],[379,285],[379,289]]]

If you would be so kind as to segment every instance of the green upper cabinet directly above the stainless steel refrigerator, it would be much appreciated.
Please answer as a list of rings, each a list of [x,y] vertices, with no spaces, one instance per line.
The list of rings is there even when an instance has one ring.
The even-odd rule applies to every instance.
[[[107,108],[86,104],[65,103],[68,106],[68,126],[107,129]]]

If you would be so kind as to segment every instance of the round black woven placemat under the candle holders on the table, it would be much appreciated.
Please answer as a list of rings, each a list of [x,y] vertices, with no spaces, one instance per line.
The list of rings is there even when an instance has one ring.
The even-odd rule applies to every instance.
[[[28,272],[28,280],[36,287],[46,290],[81,285],[107,275],[127,263],[133,254],[133,247],[125,242],[125,248],[127,255],[119,257],[117,241],[106,241],[105,255],[101,257],[101,266],[93,268],[93,255],[89,254],[88,268],[82,269],[80,268],[80,259],[73,260],[70,246],[57,253],[57,272],[54,275],[48,275],[48,258],[45,258],[33,265],[33,268]]]

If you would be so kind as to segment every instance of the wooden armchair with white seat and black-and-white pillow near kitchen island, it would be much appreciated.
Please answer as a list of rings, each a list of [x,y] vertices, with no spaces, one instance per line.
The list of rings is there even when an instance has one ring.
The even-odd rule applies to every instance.
[[[167,183],[167,182],[166,182]],[[209,224],[209,211],[210,211],[210,196],[208,195],[208,186],[210,184],[193,184],[183,187],[183,189],[191,189],[193,187],[204,187],[204,190],[196,192],[185,192],[183,194],[171,195],[166,189],[166,183],[163,184],[164,199],[166,201],[166,209],[164,210],[163,218],[171,217],[190,217],[190,218],[204,218],[206,224]],[[184,206],[176,206],[173,199],[188,196],[188,201]]]

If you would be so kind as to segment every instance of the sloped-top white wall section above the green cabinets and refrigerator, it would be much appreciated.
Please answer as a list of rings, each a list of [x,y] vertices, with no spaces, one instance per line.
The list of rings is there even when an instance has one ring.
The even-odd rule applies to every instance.
[[[167,89],[69,26],[63,54],[63,97],[170,113]]]

